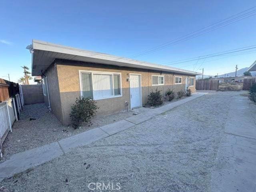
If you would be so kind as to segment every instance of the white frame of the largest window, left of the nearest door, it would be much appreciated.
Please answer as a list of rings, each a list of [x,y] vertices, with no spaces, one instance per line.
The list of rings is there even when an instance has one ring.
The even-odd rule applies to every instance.
[[[102,72],[102,71],[87,71],[87,70],[78,70],[79,71],[79,83],[80,83],[80,95],[83,96],[83,86],[82,86],[82,77],[81,74],[82,73],[87,73],[87,74],[91,74],[91,78],[92,78],[92,97],[94,98],[94,93],[93,93],[93,75],[94,74],[105,74],[105,75],[112,75],[112,88],[113,88],[113,96],[109,96],[109,97],[102,97],[102,98],[94,98],[94,100],[102,100],[102,99],[109,99],[109,98],[116,98],[116,97],[122,97],[122,75],[121,73],[118,72]],[[119,75],[119,81],[120,81],[120,95],[115,95],[114,93],[114,75]]]

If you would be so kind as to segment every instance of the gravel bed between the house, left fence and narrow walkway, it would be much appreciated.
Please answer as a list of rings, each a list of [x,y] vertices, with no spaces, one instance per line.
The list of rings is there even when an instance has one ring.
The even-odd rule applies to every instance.
[[[140,111],[142,110],[136,110],[138,113]],[[4,156],[0,163],[10,158],[12,154],[128,118],[133,113],[134,111],[128,111],[103,117],[96,116],[92,120],[92,125],[84,124],[80,129],[75,130],[72,126],[63,126],[44,104],[26,105],[20,114],[20,120],[14,123],[12,132],[8,134],[4,141]],[[30,120],[30,118],[36,118],[36,120]]]

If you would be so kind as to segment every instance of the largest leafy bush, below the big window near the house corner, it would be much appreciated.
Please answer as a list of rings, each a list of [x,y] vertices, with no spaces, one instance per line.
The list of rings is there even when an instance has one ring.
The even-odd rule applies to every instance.
[[[96,115],[98,107],[93,98],[76,98],[76,104],[71,107],[70,118],[74,128],[78,128],[83,122],[89,122]]]

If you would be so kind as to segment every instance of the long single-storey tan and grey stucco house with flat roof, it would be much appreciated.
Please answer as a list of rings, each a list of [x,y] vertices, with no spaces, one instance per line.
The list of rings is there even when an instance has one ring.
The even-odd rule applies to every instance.
[[[46,105],[64,125],[79,96],[92,97],[97,114],[141,107],[151,90],[195,92],[198,72],[33,40],[32,76],[42,76]]]

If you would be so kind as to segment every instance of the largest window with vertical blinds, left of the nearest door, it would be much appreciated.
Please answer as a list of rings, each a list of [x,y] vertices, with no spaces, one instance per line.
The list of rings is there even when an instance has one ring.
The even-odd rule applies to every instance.
[[[98,100],[122,96],[121,74],[82,71],[80,78],[83,97]]]

